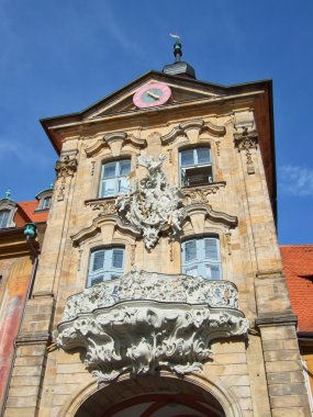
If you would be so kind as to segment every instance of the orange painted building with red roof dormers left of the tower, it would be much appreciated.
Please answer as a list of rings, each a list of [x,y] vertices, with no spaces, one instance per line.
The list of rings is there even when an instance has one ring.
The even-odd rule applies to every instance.
[[[11,376],[14,346],[37,267],[53,190],[35,200],[0,200],[0,408]],[[14,345],[15,343],[15,345]]]

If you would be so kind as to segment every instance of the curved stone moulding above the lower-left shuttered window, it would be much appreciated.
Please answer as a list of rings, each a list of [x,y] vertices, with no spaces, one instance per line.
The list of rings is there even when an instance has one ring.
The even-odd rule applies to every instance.
[[[92,224],[90,226],[85,227],[80,232],[70,236],[72,245],[77,247],[81,245],[85,240],[94,237],[97,234],[101,232],[101,227],[104,224],[111,224],[114,227],[118,227],[122,233],[125,233],[132,236],[132,240],[134,240],[134,236],[135,237],[141,236],[141,233],[137,229],[122,223],[121,219],[116,216],[116,214],[102,214],[102,215],[100,214],[98,217],[96,217],[92,221]]]

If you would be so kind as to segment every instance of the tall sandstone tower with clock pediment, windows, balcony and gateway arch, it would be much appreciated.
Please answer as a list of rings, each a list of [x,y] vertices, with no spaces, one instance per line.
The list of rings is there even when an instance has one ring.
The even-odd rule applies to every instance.
[[[142,415],[147,398],[310,415],[275,226],[271,82],[176,69],[42,122],[60,159],[5,417]]]

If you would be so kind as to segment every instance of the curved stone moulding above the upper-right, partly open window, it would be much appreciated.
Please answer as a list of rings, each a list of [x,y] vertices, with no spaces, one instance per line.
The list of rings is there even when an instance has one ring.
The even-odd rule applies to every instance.
[[[197,142],[201,133],[209,133],[213,136],[224,136],[226,133],[225,126],[217,126],[212,122],[203,120],[191,120],[180,123],[174,127],[168,134],[161,136],[163,145],[174,143],[177,137],[185,136],[189,142]]]

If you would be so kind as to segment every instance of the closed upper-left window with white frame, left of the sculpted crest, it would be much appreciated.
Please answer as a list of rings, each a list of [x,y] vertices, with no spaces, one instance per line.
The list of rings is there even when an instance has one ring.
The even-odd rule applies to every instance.
[[[108,162],[102,166],[99,196],[126,194],[130,189],[127,176],[131,170],[131,160],[123,159]]]

